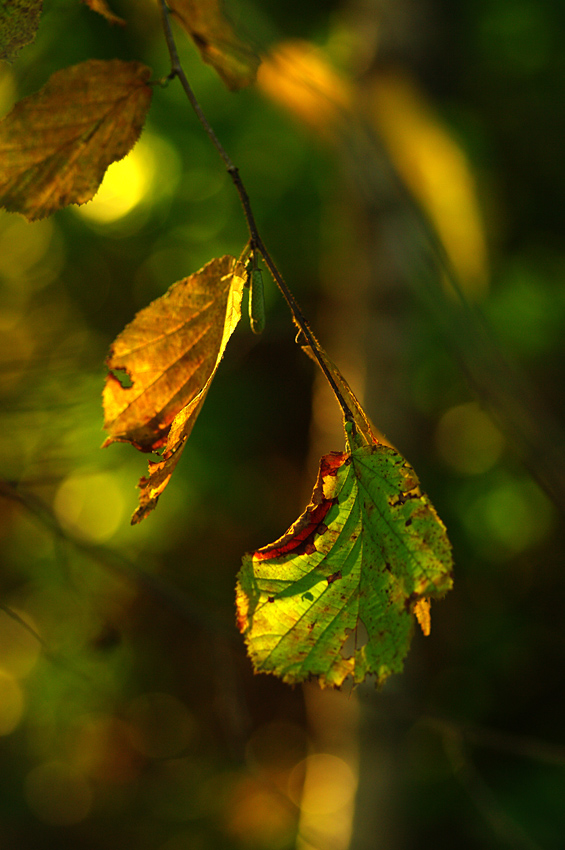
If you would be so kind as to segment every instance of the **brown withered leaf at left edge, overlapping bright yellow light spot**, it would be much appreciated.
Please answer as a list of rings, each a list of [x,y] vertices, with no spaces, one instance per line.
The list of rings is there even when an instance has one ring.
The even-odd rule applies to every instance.
[[[139,138],[150,76],[139,62],[90,59],[17,103],[0,121],[0,206],[33,221],[90,201]]]

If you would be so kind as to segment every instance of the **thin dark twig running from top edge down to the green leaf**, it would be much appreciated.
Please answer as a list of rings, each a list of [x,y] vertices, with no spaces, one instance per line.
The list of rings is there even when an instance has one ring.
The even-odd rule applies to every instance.
[[[314,354],[314,356],[315,356],[315,358],[318,362],[320,369],[322,370],[326,380],[328,381],[330,387],[332,388],[333,394],[335,395],[335,397],[336,397],[336,399],[339,403],[339,406],[341,407],[341,409],[343,411],[343,415],[344,415],[346,421],[351,422],[353,424],[354,429],[355,429],[355,422],[354,422],[353,413],[350,410],[350,408],[349,408],[346,400],[344,399],[343,395],[341,394],[339,387],[338,387],[338,385],[336,384],[336,382],[333,378],[333,375],[331,374],[330,370],[328,369],[328,367],[326,366],[326,364],[324,362],[324,359],[323,359],[322,354],[320,352],[320,346],[318,345],[318,341],[316,340],[316,337],[314,336],[314,334],[310,330],[308,322],[306,321],[306,319],[305,319],[305,317],[302,313],[302,310],[300,309],[298,302],[296,301],[294,295],[292,294],[292,292],[288,288],[282,274],[280,273],[277,266],[275,265],[273,258],[271,257],[265,243],[263,242],[263,240],[261,238],[261,235],[259,233],[259,229],[257,227],[257,223],[255,221],[255,216],[254,216],[253,210],[251,208],[251,201],[249,200],[249,195],[247,194],[247,189],[245,188],[243,180],[241,179],[241,176],[239,174],[239,169],[234,165],[231,158],[229,157],[226,150],[224,149],[223,145],[221,144],[220,140],[216,136],[216,134],[215,134],[214,130],[212,129],[208,119],[206,118],[206,116],[204,115],[204,112],[202,111],[202,107],[200,106],[200,104],[199,104],[199,102],[196,98],[196,95],[194,94],[194,92],[192,90],[190,83],[188,82],[187,76],[186,76],[186,74],[183,70],[183,67],[181,65],[181,61],[180,61],[180,58],[179,58],[175,38],[174,38],[173,31],[172,31],[172,28],[171,28],[170,10],[169,10],[165,0],[159,0],[159,5],[160,5],[160,8],[161,8],[161,19],[162,19],[162,22],[163,22],[163,31],[164,31],[164,34],[165,34],[165,40],[167,42],[167,48],[169,50],[169,56],[170,56],[170,59],[171,59],[171,74],[170,74],[170,76],[171,77],[175,76],[175,77],[179,78],[180,83],[181,83],[181,85],[182,85],[182,87],[185,91],[186,96],[188,97],[188,99],[190,101],[192,108],[194,109],[194,111],[196,113],[198,120],[200,121],[200,123],[204,127],[204,130],[206,131],[208,137],[210,138],[210,141],[212,142],[212,144],[214,145],[214,147],[218,151],[219,155],[223,159],[223,161],[226,165],[227,172],[231,177],[232,183],[235,186],[235,189],[236,189],[236,191],[239,195],[239,199],[241,201],[241,205],[243,207],[243,213],[245,215],[245,221],[247,223],[247,229],[249,230],[249,235],[251,237],[252,247],[255,248],[257,251],[259,251],[259,253],[263,257],[263,259],[265,261],[265,265],[269,269],[269,271],[270,271],[270,273],[273,277],[273,280],[277,284],[277,286],[278,286],[279,290],[281,291],[286,303],[288,304],[288,307],[290,309],[290,312],[292,313],[292,317],[293,317],[296,325],[300,328],[300,330],[302,331],[302,333],[306,337],[306,340],[308,341],[308,345],[312,349],[312,352],[313,352],[313,354]]]

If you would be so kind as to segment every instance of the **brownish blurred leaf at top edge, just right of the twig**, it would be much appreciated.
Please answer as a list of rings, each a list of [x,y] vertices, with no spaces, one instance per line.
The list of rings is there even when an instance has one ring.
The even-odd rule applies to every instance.
[[[259,57],[236,35],[221,0],[169,0],[168,6],[190,35],[204,62],[232,91],[252,83]]]

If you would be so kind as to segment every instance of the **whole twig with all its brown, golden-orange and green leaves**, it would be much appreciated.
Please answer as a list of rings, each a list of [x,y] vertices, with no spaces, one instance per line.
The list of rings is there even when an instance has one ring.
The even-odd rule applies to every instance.
[[[103,0],[91,9],[124,24]],[[298,341],[341,407],[346,451],[322,458],[311,504],[275,543],[246,555],[237,587],[238,625],[254,667],[287,682],[339,687],[402,669],[416,616],[429,632],[429,600],[451,587],[445,528],[411,467],[381,445],[346,379],[312,333],[258,232],[235,165],[218,142],[180,64],[174,16],[231,90],[259,64],[223,17],[218,0],[161,2],[169,77],[178,77],[223,158],[243,204],[249,241],[239,259],[212,259],[173,283],[114,341],[104,388],[104,445],[158,453],[139,483],[132,523],[148,516],[169,483],[251,290],[260,332],[262,259],[285,297]],[[2,7],[2,55],[35,33],[41,4]],[[152,72],[135,61],[87,60],[54,73],[0,122],[0,204],[34,221],[96,194],[108,166],[134,146],[149,110]],[[247,265],[246,265],[247,263]]]

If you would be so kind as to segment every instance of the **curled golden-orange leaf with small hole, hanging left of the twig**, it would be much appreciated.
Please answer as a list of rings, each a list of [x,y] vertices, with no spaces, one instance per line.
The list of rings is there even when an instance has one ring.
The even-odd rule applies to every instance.
[[[164,447],[162,460],[150,461],[149,476],[139,482],[132,523],[153,510],[169,483],[241,318],[245,282],[245,267],[234,257],[212,260],[141,310],[111,347],[104,445]]]

